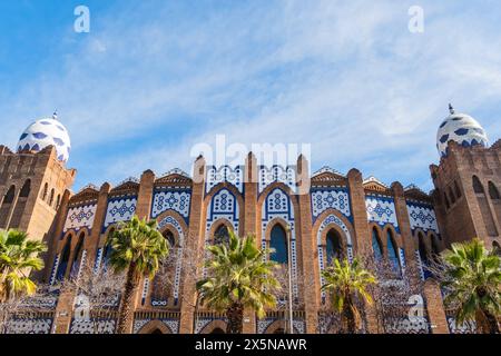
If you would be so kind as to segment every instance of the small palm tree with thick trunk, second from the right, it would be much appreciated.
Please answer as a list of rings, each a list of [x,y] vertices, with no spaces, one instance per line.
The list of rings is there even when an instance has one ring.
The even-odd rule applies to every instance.
[[[322,290],[328,291],[332,306],[341,314],[343,332],[355,334],[361,327],[361,314],[356,306],[356,297],[372,305],[372,296],[367,287],[376,283],[376,278],[365,270],[357,259],[352,264],[336,258],[330,267],[322,271],[325,284]]]

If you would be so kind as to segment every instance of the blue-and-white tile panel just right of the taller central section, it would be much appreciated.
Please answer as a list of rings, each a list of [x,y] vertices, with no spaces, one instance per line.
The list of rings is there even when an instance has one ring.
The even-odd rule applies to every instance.
[[[322,212],[327,209],[336,209],[345,217],[350,217],[350,196],[347,189],[315,189],[312,190],[312,214],[315,220]]]

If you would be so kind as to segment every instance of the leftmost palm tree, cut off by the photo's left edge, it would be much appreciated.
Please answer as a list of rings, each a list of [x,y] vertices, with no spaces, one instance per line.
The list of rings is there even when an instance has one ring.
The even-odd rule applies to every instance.
[[[37,285],[29,273],[43,268],[39,254],[46,250],[43,243],[29,240],[26,233],[0,230],[0,303],[35,294]]]

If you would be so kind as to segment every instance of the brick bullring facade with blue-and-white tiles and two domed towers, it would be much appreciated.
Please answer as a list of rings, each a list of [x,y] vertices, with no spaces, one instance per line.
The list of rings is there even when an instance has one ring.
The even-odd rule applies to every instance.
[[[321,270],[335,254],[348,259],[380,256],[396,275],[412,268],[424,283],[424,323],[405,324],[410,333],[456,333],[444,310],[440,289],[428,279],[426,264],[453,241],[479,237],[499,246],[501,230],[501,144],[488,145],[480,125],[468,115],[455,113],[440,125],[439,166],[430,167],[435,189],[425,194],[400,182],[387,186],[364,178],[357,169],[346,175],[323,168],[307,176],[308,162],[265,167],[249,154],[245,165],[214,167],[199,157],[194,171],[179,169],[157,176],[146,170],[112,187],[89,185],[70,191],[76,171],[66,162],[69,135],[57,120],[42,119],[21,136],[16,151],[0,146],[0,228],[19,228],[49,246],[46,269],[37,275],[45,284],[78,277],[82,266],[106,264],[109,234],[134,215],[158,221],[160,231],[176,246],[177,263],[167,290],[155,290],[144,278],[137,293],[134,333],[212,333],[225,328],[224,315],[197,305],[195,283],[204,273],[204,248],[220,231],[254,234],[263,247],[274,247],[273,258],[288,263],[291,239],[295,333],[325,333],[321,310]],[[289,234],[289,235],[288,235]],[[195,253],[194,253],[195,251]],[[282,251],[282,253],[281,253]],[[191,254],[191,255],[188,255]],[[282,254],[282,255],[281,255]],[[90,333],[86,322],[75,318],[76,295],[56,290],[52,303],[31,323],[39,333]],[[118,301],[116,307],[118,309]],[[285,310],[269,310],[264,319],[246,313],[244,332],[274,333],[285,327]],[[404,317],[404,316],[403,316]],[[112,333],[116,320],[102,319],[100,330]],[[367,313],[366,329],[376,322]],[[35,325],[35,326],[32,326]],[[22,320],[12,332],[30,332]]]

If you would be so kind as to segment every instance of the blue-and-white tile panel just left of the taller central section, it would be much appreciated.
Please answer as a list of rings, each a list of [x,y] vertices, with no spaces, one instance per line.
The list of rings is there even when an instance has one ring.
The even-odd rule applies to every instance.
[[[191,194],[189,190],[160,190],[154,195],[151,218],[160,216],[167,210],[177,211],[187,221]]]

